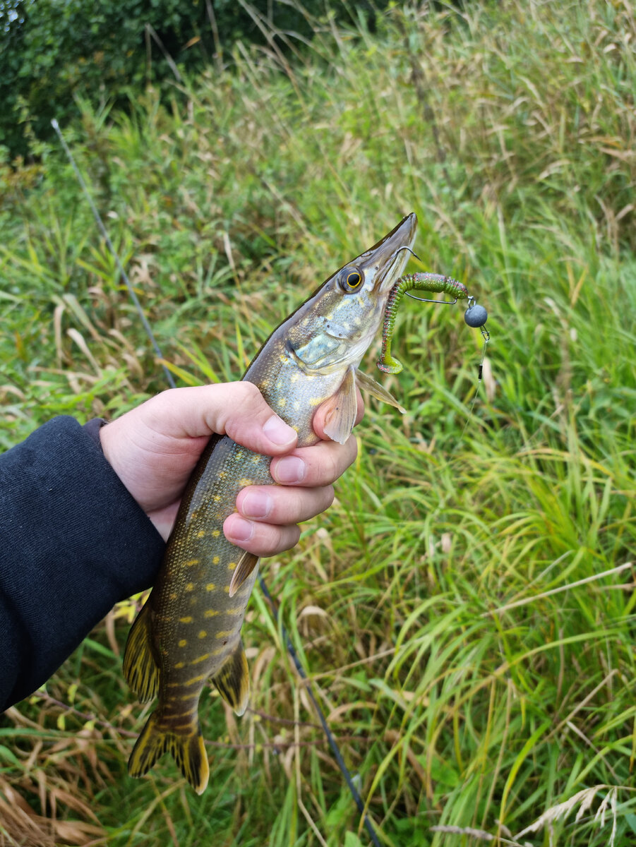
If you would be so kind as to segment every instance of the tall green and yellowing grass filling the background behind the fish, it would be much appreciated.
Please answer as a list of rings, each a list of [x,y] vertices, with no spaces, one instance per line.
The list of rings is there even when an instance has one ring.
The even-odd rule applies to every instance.
[[[129,5],[157,33],[160,4]],[[5,46],[9,6],[25,4],[0,9]],[[411,211],[426,268],[489,309],[477,385],[482,339],[462,312],[404,304],[406,368],[387,384],[406,416],[368,403],[335,506],[263,568],[379,839],[633,844],[633,4],[294,3],[292,26],[277,19],[290,4],[241,0],[249,29],[227,36],[209,8],[224,4],[198,29],[174,23],[179,50],[212,33],[207,67],[137,25],[136,76],[102,69],[96,96],[52,64],[45,98],[180,384],[238,378]],[[164,387],[44,106],[16,87],[12,43],[3,448]],[[93,73],[112,46],[86,45]],[[214,692],[202,702],[207,793],[168,758],[127,777],[147,714],[121,673],[136,605],[3,717],[0,844],[368,844],[258,590],[252,707],[236,721]]]

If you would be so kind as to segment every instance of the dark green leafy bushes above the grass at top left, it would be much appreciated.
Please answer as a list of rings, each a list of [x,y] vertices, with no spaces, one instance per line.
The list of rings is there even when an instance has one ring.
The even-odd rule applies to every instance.
[[[328,4],[325,8],[328,8]],[[346,7],[336,4],[336,14]],[[372,14],[367,3],[357,14]],[[267,30],[265,30],[267,25]],[[307,17],[282,0],[3,0],[0,2],[0,139],[10,158],[38,155],[52,137],[51,119],[75,117],[78,97],[93,108],[126,103],[129,86],[166,90],[181,73],[214,59],[236,40],[262,44],[264,35],[311,36]],[[170,91],[168,85],[167,90]],[[173,89],[174,92],[174,89]]]

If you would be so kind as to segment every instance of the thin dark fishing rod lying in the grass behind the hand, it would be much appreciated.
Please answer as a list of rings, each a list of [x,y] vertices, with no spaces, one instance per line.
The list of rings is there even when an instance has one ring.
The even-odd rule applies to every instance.
[[[148,320],[147,320],[146,315],[143,311],[143,308],[141,307],[141,303],[139,302],[139,299],[137,298],[135,291],[134,291],[132,285],[130,284],[130,280],[128,279],[128,275],[124,271],[124,267],[123,267],[122,263],[119,261],[119,255],[115,251],[115,248],[113,246],[113,242],[108,237],[108,232],[106,231],[106,227],[104,226],[104,224],[102,222],[102,218],[100,216],[100,213],[97,210],[97,207],[95,206],[95,203],[92,201],[92,197],[91,197],[91,195],[88,191],[88,188],[86,187],[86,183],[83,180],[82,175],[80,174],[80,169],[75,164],[75,159],[73,158],[73,154],[70,152],[69,146],[67,145],[66,141],[64,141],[64,136],[62,135],[62,132],[59,129],[58,121],[56,119],[53,119],[51,121],[51,124],[53,125],[53,129],[58,134],[58,138],[62,143],[62,147],[64,147],[64,152],[66,153],[66,156],[69,159],[69,162],[73,166],[73,170],[75,171],[75,176],[77,177],[77,180],[80,183],[81,189],[84,192],[84,196],[86,197],[86,200],[88,201],[89,206],[91,207],[93,217],[95,218],[95,220],[97,222],[97,226],[98,226],[100,232],[102,233],[104,241],[106,241],[106,244],[108,246],[108,250],[110,251],[111,255],[113,256],[113,259],[115,260],[115,263],[117,264],[117,268],[119,269],[119,273],[123,277],[124,282],[125,282],[126,286],[128,287],[128,291],[130,292],[130,296],[132,298],[132,301],[135,304],[135,308],[137,310],[137,313],[139,313],[139,317],[141,318],[141,324],[143,325],[143,328],[146,330],[147,336],[152,343],[152,347],[153,347],[154,351],[157,353],[157,355],[160,359],[163,359],[163,353],[161,352],[161,350],[158,346],[157,340],[155,339],[154,335],[152,334],[151,326],[148,323]],[[405,249],[405,248],[401,247],[400,249]],[[410,249],[410,248],[407,247],[406,249]],[[169,369],[166,368],[165,365],[162,365],[162,368],[163,368],[163,373],[166,375],[166,379],[168,379],[170,387],[175,388],[176,386],[174,385],[174,379],[172,377],[172,374],[169,372]],[[365,805],[362,802],[362,797],[358,793],[357,788],[353,783],[353,778],[351,777],[351,773],[349,772],[349,769],[346,767],[345,761],[342,758],[342,754],[340,753],[340,748],[338,747],[338,744],[337,744],[337,742],[334,738],[333,733],[329,729],[329,725],[327,723],[327,718],[324,717],[324,711],[320,708],[320,706],[318,704],[318,700],[316,700],[316,696],[313,693],[312,684],[310,683],[309,679],[307,678],[307,673],[305,673],[305,670],[301,665],[301,661],[298,657],[298,654],[296,653],[296,650],[294,649],[294,645],[292,645],[292,643],[291,643],[290,636],[287,632],[287,629],[285,628],[285,624],[282,623],[279,620],[279,613],[278,613],[278,609],[275,605],[274,598],[269,593],[268,587],[265,584],[263,576],[260,573],[258,574],[258,584],[261,586],[261,590],[263,591],[263,594],[265,595],[265,597],[268,600],[269,606],[272,609],[272,614],[274,615],[275,622],[280,627],[280,633],[281,633],[282,638],[285,642],[285,648],[287,649],[287,652],[290,654],[291,660],[292,660],[292,662],[294,662],[294,665],[296,666],[296,670],[298,671],[299,676],[306,683],[307,695],[309,695],[309,699],[312,701],[313,707],[318,714],[318,719],[319,719],[319,721],[320,721],[320,723],[321,723],[321,725],[324,729],[324,734],[327,736],[327,740],[329,741],[329,746],[331,747],[331,750],[332,750],[332,752],[335,756],[335,761],[337,762],[338,767],[340,767],[340,772],[342,772],[342,775],[345,778],[347,788],[351,792],[351,797],[353,798],[353,800],[355,800],[358,811],[360,811],[360,814],[362,815],[362,822],[364,823],[364,827],[366,828],[368,835],[369,835],[369,838],[371,839],[371,841],[373,843],[373,847],[381,847],[381,844],[380,844],[379,839],[378,839],[378,835],[375,832],[375,829],[373,828],[373,823],[371,822],[370,818],[368,817],[368,815],[364,811]]]

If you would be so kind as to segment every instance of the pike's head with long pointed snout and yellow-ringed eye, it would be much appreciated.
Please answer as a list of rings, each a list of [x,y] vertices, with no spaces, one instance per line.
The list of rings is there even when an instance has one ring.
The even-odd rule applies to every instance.
[[[282,324],[285,349],[306,373],[357,368],[379,330],[417,229],[418,219],[412,213],[339,268]]]

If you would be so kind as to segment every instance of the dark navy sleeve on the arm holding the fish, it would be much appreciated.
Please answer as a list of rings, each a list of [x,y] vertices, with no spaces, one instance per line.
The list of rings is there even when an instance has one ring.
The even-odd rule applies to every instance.
[[[53,418],[0,456],[0,711],[46,682],[161,562],[163,539],[95,435]]]

